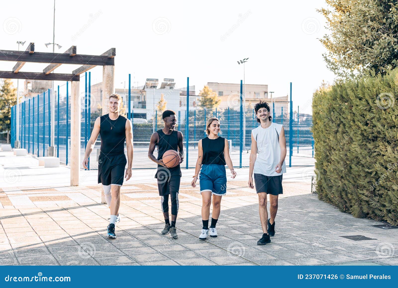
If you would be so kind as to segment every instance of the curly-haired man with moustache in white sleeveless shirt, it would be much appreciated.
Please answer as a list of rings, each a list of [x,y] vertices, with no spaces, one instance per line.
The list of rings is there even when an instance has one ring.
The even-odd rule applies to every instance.
[[[260,125],[252,130],[252,151],[250,153],[249,187],[258,194],[259,215],[263,236],[258,245],[270,243],[269,236],[275,235],[275,216],[278,210],[278,195],[283,193],[282,174],[286,173],[286,139],[282,124],[271,122],[269,105],[260,101],[254,106]],[[258,154],[257,154],[258,153]],[[267,212],[269,194],[269,214]]]

